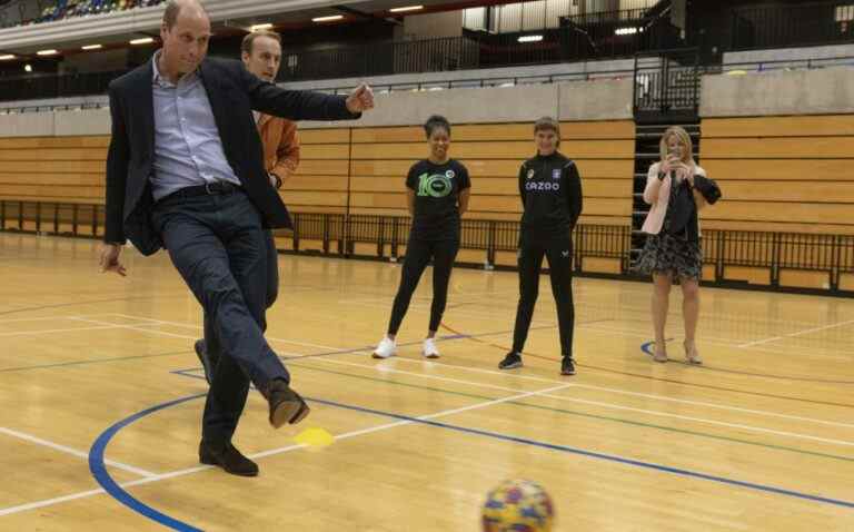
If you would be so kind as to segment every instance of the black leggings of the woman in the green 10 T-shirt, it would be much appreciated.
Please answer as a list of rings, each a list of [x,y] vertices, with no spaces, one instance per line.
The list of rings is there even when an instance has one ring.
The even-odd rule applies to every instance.
[[[391,318],[388,323],[388,334],[397,334],[404,321],[409,302],[421,274],[433,258],[433,305],[430,306],[429,331],[438,331],[445,305],[448,301],[448,283],[454,259],[459,250],[458,240],[417,240],[409,239],[406,245],[404,269],[400,273],[400,286],[391,307]]]

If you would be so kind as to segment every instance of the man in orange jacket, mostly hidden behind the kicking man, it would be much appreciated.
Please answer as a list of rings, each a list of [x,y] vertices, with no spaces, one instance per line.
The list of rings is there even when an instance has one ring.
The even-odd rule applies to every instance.
[[[281,65],[281,37],[272,31],[255,31],[244,38],[240,47],[246,69],[258,78],[274,82]],[[258,135],[264,145],[264,166],[270,177],[270,186],[281,188],[299,166],[299,138],[297,124],[285,118],[254,111]],[[267,308],[279,295],[279,260],[272,231],[267,231]],[[265,324],[266,325],[266,324]],[[266,326],[265,326],[266,329]],[[208,383],[219,358],[217,338],[212,326],[205,319],[205,339],[196,342],[196,354],[205,368]]]

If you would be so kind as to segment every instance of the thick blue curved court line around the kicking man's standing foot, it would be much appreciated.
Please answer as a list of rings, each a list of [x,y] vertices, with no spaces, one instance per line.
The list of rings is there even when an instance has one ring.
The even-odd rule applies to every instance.
[[[109,445],[110,440],[112,440],[112,437],[120,430],[125,428],[131,423],[149,414],[153,414],[155,412],[161,411],[163,408],[168,408],[170,406],[186,403],[187,401],[191,401],[195,398],[205,397],[207,393],[195,394],[195,395],[189,395],[187,397],[181,397],[175,401],[169,401],[168,403],[161,403],[159,405],[155,405],[150,408],[143,410],[129,417],[126,417],[120,422],[116,423],[115,425],[112,425],[111,427],[103,431],[101,435],[98,436],[98,439],[95,441],[91,449],[89,450],[89,471],[92,473],[92,476],[95,476],[95,480],[98,482],[98,484],[100,484],[103,491],[106,491],[110,496],[119,501],[121,504],[128,506],[130,510],[133,510],[135,512],[140,513],[146,518],[162,524],[163,526],[168,526],[172,530],[179,530],[181,532],[200,532],[201,529],[197,529],[182,521],[178,521],[177,519],[170,518],[169,515],[158,512],[153,508],[139,502],[130,493],[125,491],[125,489],[121,487],[112,479],[112,476],[110,476],[110,473],[107,471],[107,467],[105,466],[105,463],[103,463],[103,453],[107,450],[107,445]]]

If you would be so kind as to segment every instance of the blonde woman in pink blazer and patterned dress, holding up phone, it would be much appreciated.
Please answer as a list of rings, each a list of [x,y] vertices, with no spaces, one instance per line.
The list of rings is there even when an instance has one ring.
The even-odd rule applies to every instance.
[[[697,213],[706,200],[695,188],[695,176],[706,177],[692,155],[691,137],[681,127],[671,127],[662,136],[662,159],[649,168],[644,201],[652,205],[642,230],[647,234],[637,269],[653,275],[653,326],[655,362],[667,362],[664,327],[671,286],[682,285],[682,312],[685,318],[685,358],[702,364],[694,335],[699,317],[699,276],[703,252],[699,247]]]

